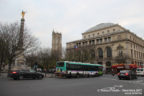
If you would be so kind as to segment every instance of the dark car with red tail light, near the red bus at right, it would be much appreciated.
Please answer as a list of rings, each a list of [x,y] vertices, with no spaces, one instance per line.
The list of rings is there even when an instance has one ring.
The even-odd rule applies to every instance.
[[[118,78],[121,79],[137,79],[136,71],[135,70],[121,70],[118,73]]]

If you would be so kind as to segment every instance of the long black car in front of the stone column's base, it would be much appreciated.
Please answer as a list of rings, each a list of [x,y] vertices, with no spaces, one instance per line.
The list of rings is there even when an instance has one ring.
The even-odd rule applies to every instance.
[[[44,75],[34,70],[12,70],[8,73],[8,77],[13,78],[14,80],[20,80],[24,78],[32,79],[42,79]]]

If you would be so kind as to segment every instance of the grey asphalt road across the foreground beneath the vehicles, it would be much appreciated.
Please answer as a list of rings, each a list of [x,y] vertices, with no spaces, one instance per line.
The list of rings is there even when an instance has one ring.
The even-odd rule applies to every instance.
[[[43,80],[0,78],[0,96],[144,96],[144,77],[137,80],[118,80],[111,75]]]

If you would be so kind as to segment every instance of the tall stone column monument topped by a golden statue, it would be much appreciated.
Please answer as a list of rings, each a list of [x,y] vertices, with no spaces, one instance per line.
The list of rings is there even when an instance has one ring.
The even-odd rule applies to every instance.
[[[25,19],[24,19],[24,15],[25,15],[25,12],[22,11],[22,18],[21,18],[21,26],[20,26],[20,33],[19,33],[19,41],[18,41],[18,50],[16,51],[16,58],[15,58],[15,64],[13,66],[13,70],[17,70],[17,69],[26,69],[27,66],[25,64],[26,62],[26,59],[25,59],[25,56],[24,56],[24,48],[23,48],[23,33],[24,33],[24,22],[25,22]]]

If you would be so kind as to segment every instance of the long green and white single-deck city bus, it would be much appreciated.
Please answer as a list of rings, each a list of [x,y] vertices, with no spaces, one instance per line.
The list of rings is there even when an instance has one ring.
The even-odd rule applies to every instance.
[[[71,61],[59,61],[56,63],[56,76],[61,77],[89,77],[103,75],[103,66]]]

